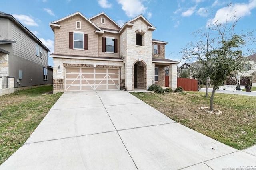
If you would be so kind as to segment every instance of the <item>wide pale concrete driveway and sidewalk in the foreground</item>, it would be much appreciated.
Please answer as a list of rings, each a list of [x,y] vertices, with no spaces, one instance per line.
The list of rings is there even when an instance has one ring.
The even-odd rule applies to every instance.
[[[256,165],[126,91],[65,92],[1,170],[222,170]]]

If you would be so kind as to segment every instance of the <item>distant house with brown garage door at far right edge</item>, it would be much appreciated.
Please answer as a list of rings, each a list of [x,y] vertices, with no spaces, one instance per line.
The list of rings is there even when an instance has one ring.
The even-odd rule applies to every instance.
[[[236,85],[239,81],[240,85],[256,86],[256,53],[246,57],[244,72],[238,72],[239,78],[227,78],[227,85]]]

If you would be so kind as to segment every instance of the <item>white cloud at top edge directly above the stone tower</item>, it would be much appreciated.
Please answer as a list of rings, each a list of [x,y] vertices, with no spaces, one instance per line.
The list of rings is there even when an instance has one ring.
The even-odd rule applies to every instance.
[[[144,7],[141,0],[116,0],[118,4],[122,5],[122,10],[128,17],[135,17],[139,14],[144,14],[147,7]]]

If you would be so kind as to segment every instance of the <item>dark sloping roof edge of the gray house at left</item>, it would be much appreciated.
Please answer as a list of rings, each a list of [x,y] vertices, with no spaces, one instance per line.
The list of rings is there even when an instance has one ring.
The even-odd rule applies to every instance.
[[[47,51],[50,51],[29,29],[24,27],[18,20],[16,20],[12,15],[6,14],[0,11],[0,17],[8,18],[12,22],[16,23],[25,33],[27,33],[30,37],[32,37],[36,42],[40,44],[40,46],[44,47]],[[16,42],[16,41],[15,41]],[[8,41],[8,43],[15,43],[14,41]]]

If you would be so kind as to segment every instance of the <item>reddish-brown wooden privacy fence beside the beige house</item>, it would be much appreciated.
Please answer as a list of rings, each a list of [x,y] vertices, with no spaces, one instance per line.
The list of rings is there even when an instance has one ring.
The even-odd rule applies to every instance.
[[[177,78],[177,87],[181,86],[185,91],[198,91],[197,80],[188,78]]]

